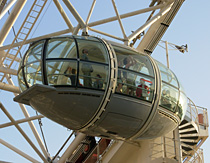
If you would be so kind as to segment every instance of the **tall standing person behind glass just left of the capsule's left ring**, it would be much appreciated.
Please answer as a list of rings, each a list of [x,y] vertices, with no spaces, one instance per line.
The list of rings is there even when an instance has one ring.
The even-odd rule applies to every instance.
[[[81,59],[89,61],[87,49],[82,50]],[[93,72],[92,65],[90,63],[83,63],[82,64],[82,72],[84,75],[84,86],[92,87],[92,79],[91,79],[91,73]]]

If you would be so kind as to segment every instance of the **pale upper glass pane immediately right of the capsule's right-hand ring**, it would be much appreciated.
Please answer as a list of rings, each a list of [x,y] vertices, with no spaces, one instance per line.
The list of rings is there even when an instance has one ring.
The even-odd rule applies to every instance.
[[[161,80],[178,88],[178,81],[174,73],[162,63],[158,61],[156,61],[156,63],[158,64],[158,67],[160,69]]]

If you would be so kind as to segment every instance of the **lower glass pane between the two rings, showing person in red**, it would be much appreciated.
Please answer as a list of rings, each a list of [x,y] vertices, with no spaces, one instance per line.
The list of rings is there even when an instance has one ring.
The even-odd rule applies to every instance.
[[[154,79],[144,74],[119,68],[116,92],[152,101]]]

